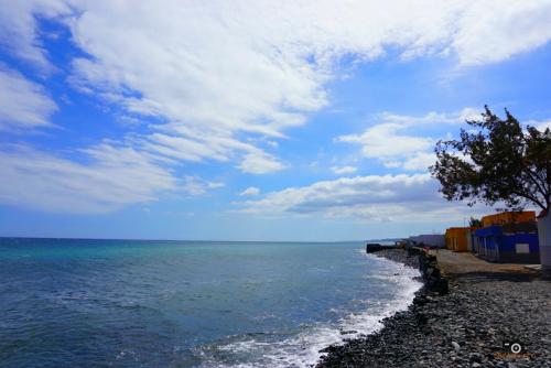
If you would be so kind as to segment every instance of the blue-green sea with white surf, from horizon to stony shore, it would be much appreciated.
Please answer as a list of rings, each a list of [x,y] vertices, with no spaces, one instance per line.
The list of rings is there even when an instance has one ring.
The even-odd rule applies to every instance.
[[[305,367],[415,274],[359,242],[0,238],[0,366]]]

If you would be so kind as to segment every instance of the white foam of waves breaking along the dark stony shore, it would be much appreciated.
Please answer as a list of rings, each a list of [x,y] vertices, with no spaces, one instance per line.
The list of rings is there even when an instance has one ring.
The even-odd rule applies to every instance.
[[[228,365],[208,359],[204,361],[203,367],[311,367],[323,356],[320,353],[321,349],[334,344],[344,344],[345,339],[379,331],[385,317],[408,309],[415,292],[421,288],[421,283],[413,280],[419,275],[419,271],[413,268],[370,255],[366,257],[370,258],[370,261],[380,262],[385,269],[383,273],[370,275],[370,278],[382,279],[397,286],[398,292],[392,300],[385,303],[370,303],[365,312],[346,315],[337,324],[315,325],[280,342],[268,343],[251,337],[218,346],[218,350],[246,354],[256,359]]]

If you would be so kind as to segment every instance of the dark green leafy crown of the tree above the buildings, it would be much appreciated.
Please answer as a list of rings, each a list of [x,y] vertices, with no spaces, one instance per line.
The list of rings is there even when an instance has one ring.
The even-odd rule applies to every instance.
[[[500,119],[487,106],[482,120],[467,121],[460,140],[439,141],[430,167],[449,201],[504,203],[520,210],[529,204],[549,209],[551,132],[522,129],[506,109]]]

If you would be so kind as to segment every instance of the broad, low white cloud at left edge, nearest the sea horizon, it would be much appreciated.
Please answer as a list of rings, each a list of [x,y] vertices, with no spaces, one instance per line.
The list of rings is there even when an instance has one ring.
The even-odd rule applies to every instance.
[[[26,147],[0,151],[0,203],[56,213],[102,213],[158,199],[177,183],[153,158],[109,144],[83,152],[83,162]],[[73,154],[73,158],[76,154]]]

